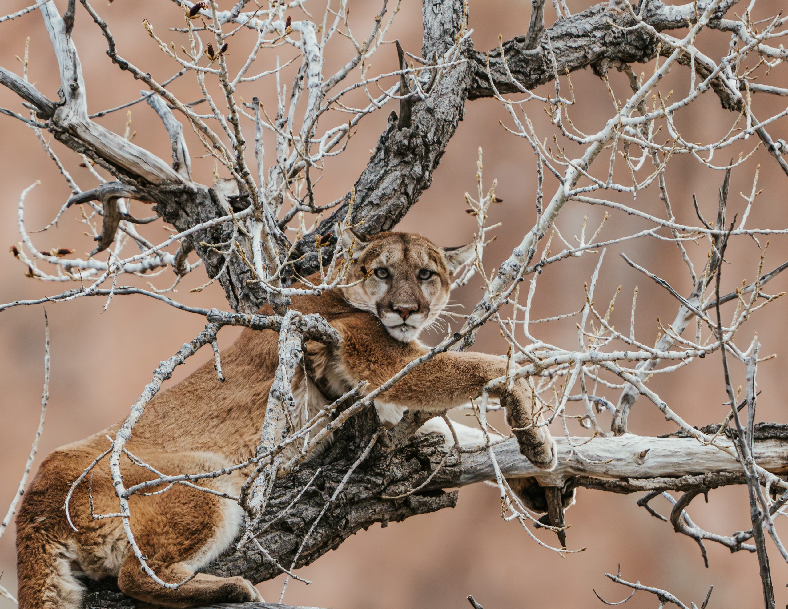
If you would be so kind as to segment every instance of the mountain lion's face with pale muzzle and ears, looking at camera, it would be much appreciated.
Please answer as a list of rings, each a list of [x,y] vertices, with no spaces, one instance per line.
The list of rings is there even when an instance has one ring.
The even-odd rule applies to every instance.
[[[347,232],[345,240],[349,249],[354,237]],[[351,305],[376,315],[396,340],[407,343],[444,310],[452,273],[473,255],[473,243],[444,248],[407,232],[356,235],[348,283],[366,279],[345,288],[344,296]]]

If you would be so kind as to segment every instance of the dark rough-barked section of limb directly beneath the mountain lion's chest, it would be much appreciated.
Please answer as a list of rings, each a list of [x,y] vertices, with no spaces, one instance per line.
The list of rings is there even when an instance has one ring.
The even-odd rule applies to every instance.
[[[348,421],[348,425],[351,428],[345,429],[347,425],[343,428],[340,439],[322,459],[322,472],[314,482],[314,488],[305,492],[299,503],[281,518],[277,518],[277,514],[307,485],[317,466],[288,474],[277,480],[274,486],[266,514],[258,525],[264,533],[260,533],[257,539],[281,564],[289,566],[292,563],[304,535],[366,446],[366,440],[377,429],[377,416],[366,411]],[[392,435],[381,437],[370,457],[359,466],[331,509],[312,531],[296,568],[312,563],[325,552],[337,548],[351,534],[376,522],[387,526],[388,522],[400,522],[417,514],[454,507],[457,493],[443,492],[439,488],[396,501],[381,499],[381,495],[394,496],[422,484],[445,455],[442,442],[438,436],[422,436],[403,446],[394,441]],[[459,460],[447,459],[433,478],[433,483],[438,487],[452,488],[459,484],[459,473]],[[205,571],[221,576],[241,574],[251,581],[264,581],[281,573],[276,565],[262,558],[255,544],[247,544],[240,550],[232,545]]]

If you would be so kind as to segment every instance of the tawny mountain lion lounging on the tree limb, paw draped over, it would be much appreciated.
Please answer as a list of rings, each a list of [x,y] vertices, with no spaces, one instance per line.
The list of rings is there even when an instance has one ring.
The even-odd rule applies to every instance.
[[[304,314],[322,314],[342,336],[334,349],[307,343],[314,378],[336,395],[362,380],[369,381],[371,391],[427,352],[416,338],[418,332],[440,314],[448,302],[451,273],[472,253],[470,247],[446,251],[406,233],[357,240],[354,250],[350,279],[364,273],[369,276],[364,282],[292,302]],[[385,278],[379,277],[384,274]],[[270,312],[267,307],[261,310]],[[259,440],[276,366],[276,332],[245,330],[222,353],[225,383],[217,381],[212,363],[206,363],[160,392],[136,425],[128,450],[165,474],[217,470],[248,459]],[[445,410],[478,397],[488,381],[504,373],[504,360],[493,355],[440,353],[381,394],[379,401],[400,409]],[[321,395],[303,374],[294,381],[294,392],[301,400],[309,395],[310,410],[332,397]],[[503,397],[511,425],[533,422],[524,382]],[[114,437],[117,429],[119,425],[113,425],[61,447],[43,461],[17,517],[20,609],[80,607],[82,591],[75,577],[80,573],[117,577],[128,596],[164,607],[258,600],[254,586],[241,577],[198,574],[171,590],[143,574],[120,520],[91,518],[88,488],[96,514],[118,509],[109,459],[99,463],[89,483],[86,480],[74,492],[70,514],[78,532],[69,526],[63,510],[66,493],[96,455],[106,450],[106,436]],[[523,454],[537,466],[555,465],[555,444],[545,428],[517,435]],[[150,472],[128,459],[122,466],[126,488],[151,479]],[[246,473],[200,484],[237,495]],[[182,485],[160,495],[132,496],[130,501],[137,543],[151,568],[169,582],[210,563],[232,542],[242,520],[236,503]]]

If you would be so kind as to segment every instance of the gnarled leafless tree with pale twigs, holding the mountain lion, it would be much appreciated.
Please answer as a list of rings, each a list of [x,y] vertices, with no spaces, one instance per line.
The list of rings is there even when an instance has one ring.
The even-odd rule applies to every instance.
[[[209,567],[210,572],[242,574],[253,581],[283,571],[292,574],[374,522],[401,520],[452,506],[456,491],[444,489],[478,481],[498,485],[506,518],[518,521],[526,533],[547,548],[545,551],[571,552],[538,540],[531,530],[552,529],[562,538],[560,510],[553,509],[548,517],[537,520],[511,493],[504,479],[537,477],[547,489],[548,499],[577,486],[608,492],[645,492],[638,504],[670,520],[678,533],[697,540],[704,555],[704,541],[723,544],[731,551],[755,552],[764,605],[774,607],[765,538],[771,537],[782,558],[788,560],[772,518],[782,514],[782,506],[788,500],[788,483],[779,475],[785,470],[786,428],[755,422],[756,373],[764,358],[760,357],[757,337],[747,347],[744,343],[739,346],[735,339],[751,314],[779,297],[763,292],[764,284],[788,266],[786,263],[764,273],[767,243],[760,243],[759,236],[780,236],[788,229],[746,225],[759,194],[757,170],[752,191],[743,195],[745,210],[741,217],[730,212],[729,184],[731,172],[747,170],[750,158],[776,162],[788,175],[788,163],[783,158],[788,145],[769,133],[788,110],[768,113],[764,119],[755,103],[760,98],[788,95],[788,90],[768,84],[779,84],[779,77],[771,72],[782,69],[786,51],[782,46],[772,46],[770,40],[784,34],[780,28],[784,28],[786,18],[754,20],[754,2],[741,9],[742,15],[738,16],[733,0],[683,6],[669,6],[659,0],[639,6],[611,2],[574,15],[563,0],[556,0],[556,22],[545,28],[545,2],[533,0],[528,32],[484,53],[474,49],[466,4],[459,0],[425,2],[421,54],[406,53],[396,43],[396,69],[370,76],[372,55],[390,48],[385,45],[391,42],[386,39],[386,32],[399,6],[382,2],[366,36],[359,39],[351,30],[346,2],[339,2],[333,9],[329,6],[320,19],[302,11],[302,0],[254,7],[247,4],[240,0],[231,9],[220,10],[213,0],[175,3],[146,20],[143,26],[152,41],[141,37],[139,43],[157,44],[177,69],[172,79],[162,83],[126,58],[124,48],[129,43],[113,37],[87,0],[80,0],[80,6],[76,0],[70,0],[62,16],[54,1],[50,1],[0,18],[16,20],[34,10],[41,13],[60,68],[58,102],[46,98],[28,82],[27,54],[21,75],[0,68],[0,82],[20,97],[24,108],[0,112],[32,128],[72,188],[72,196],[46,228],[54,225],[61,214],[71,214],[79,206],[85,225],[97,242],[87,258],[72,256],[72,249],[67,247],[47,252],[37,249],[24,223],[24,202],[33,187],[26,189],[19,199],[22,246],[13,247],[13,255],[27,266],[33,279],[74,282],[79,287],[35,302],[0,305],[0,311],[22,304],[57,303],[86,296],[104,297],[106,306],[110,306],[115,296],[136,295],[206,317],[203,332],[184,343],[180,351],[155,370],[128,415],[125,431],[113,439],[106,453],[115,458],[113,477],[121,512],[128,510],[130,493],[144,490],[123,486],[117,458],[136,421],[144,416],[145,405],[176,366],[209,344],[221,380],[217,332],[225,325],[245,325],[280,333],[281,366],[269,395],[261,444],[250,460],[256,466],[255,473],[250,477],[247,494],[240,498],[247,511],[247,528],[239,548],[219,557]],[[120,136],[93,120],[122,108],[88,114],[87,91],[77,53],[79,41],[72,38],[76,19],[94,23],[106,41],[106,54],[113,64],[145,85],[139,98],[128,106],[146,102],[158,114],[169,134],[171,163],[132,143],[130,130],[126,136]],[[175,28],[172,35],[177,43],[170,43],[163,34],[169,26]],[[679,34],[678,30],[682,32]],[[706,38],[715,32],[730,35],[730,45],[719,57],[704,46]],[[355,53],[329,73],[325,69],[325,49],[340,37],[351,41]],[[276,50],[279,47],[292,50],[293,57],[284,63],[277,58],[274,69],[251,74],[263,56],[281,53]],[[235,69],[229,67],[231,53],[243,58]],[[632,67],[649,62],[653,62],[652,67],[640,75]],[[296,75],[288,87],[282,84],[281,76],[291,65]],[[600,110],[604,112],[602,126],[590,134],[581,132],[570,118],[574,106],[582,105],[571,73],[586,68],[593,69],[603,86],[608,87],[612,108]],[[614,91],[611,69],[626,76],[630,93]],[[685,93],[662,91],[663,79],[678,71],[682,73],[681,91]],[[120,72],[119,77],[126,76]],[[170,82],[186,75],[195,78],[200,96],[197,102],[186,102],[167,88]],[[242,91],[248,89],[254,94],[258,81],[275,84],[275,111],[256,96],[251,97],[251,103],[243,101]],[[545,91],[535,92],[550,83],[554,84],[552,91],[551,87],[543,87]],[[682,137],[677,117],[703,95],[719,98],[723,110],[715,120],[729,121],[730,132],[717,141],[690,142]],[[318,270],[324,280],[312,286],[312,292],[341,284],[341,236],[351,229],[374,234],[396,226],[429,188],[463,117],[466,102],[478,98],[498,100],[509,114],[503,128],[513,137],[526,139],[533,148],[536,217],[533,228],[522,235],[511,255],[496,261],[497,270],[490,273],[485,269],[485,245],[495,228],[487,225],[487,217],[490,206],[496,203],[496,183],[483,179],[480,152],[478,192],[466,197],[466,212],[478,223],[477,257],[460,273],[455,285],[476,280],[484,285],[484,295],[470,314],[455,316],[460,325],[422,360],[447,349],[470,348],[481,325],[497,325],[507,343],[505,355],[511,362],[511,374],[492,381],[488,390],[504,386],[512,377],[529,380],[543,407],[545,424],[563,430],[559,466],[551,473],[540,472],[519,456],[514,440],[492,440],[487,413],[499,406],[486,393],[479,403],[470,405],[487,437],[485,444],[476,447],[455,443],[446,449],[441,438],[416,435],[424,421],[414,414],[406,415],[394,429],[382,431],[374,409],[370,408],[380,390],[365,395],[362,387],[344,395],[320,415],[336,415],[331,429],[309,439],[310,429],[319,421],[301,421],[284,437],[277,437],[274,424],[279,417],[287,414],[296,420],[289,381],[302,364],[303,341],[336,341],[325,321],[301,316],[289,307],[289,296],[294,294],[290,286],[296,277]],[[351,145],[356,125],[384,106],[396,107],[396,111],[389,115],[366,169],[346,195],[332,202],[322,201],[316,176],[330,158]],[[547,134],[534,127],[528,115],[534,111],[532,108],[545,108],[548,112],[556,131],[552,145],[548,144]],[[195,132],[204,148],[201,152],[214,158],[214,176],[192,174],[184,127]],[[50,145],[43,135],[47,131],[65,148],[56,150]],[[267,157],[263,145],[266,132],[273,134],[276,142],[275,154],[269,152]],[[754,139],[758,142],[753,143]],[[718,151],[727,154],[725,149],[729,147],[749,148],[728,163],[713,158]],[[100,182],[98,187],[83,191],[76,184],[58,157],[64,150],[83,156],[84,164]],[[600,163],[600,157],[608,158],[608,162]],[[595,161],[597,164],[593,165]],[[707,221],[697,201],[690,207],[686,195],[668,194],[668,166],[690,162],[721,173],[716,218]],[[220,168],[226,177],[219,177]],[[203,184],[209,181],[210,186]],[[640,209],[640,193],[644,193],[641,200],[658,196],[664,213],[657,216]],[[610,199],[604,198],[608,196]],[[630,196],[634,202],[630,202]],[[671,203],[671,196],[675,204]],[[132,201],[153,203],[155,215],[136,217],[132,214]],[[585,234],[584,223],[578,243],[572,244],[564,240],[555,224],[567,202],[604,206],[611,214],[630,214],[647,228],[601,240],[604,222],[594,228],[590,238]],[[323,213],[330,215],[321,220]],[[157,244],[140,234],[138,225],[160,219],[173,227],[174,234]],[[605,248],[632,240],[675,243],[677,260],[686,265],[692,280],[692,290],[682,294],[657,274],[660,269],[652,272],[623,254],[633,269],[678,301],[675,314],[670,312],[672,323],[660,324],[660,336],[653,344],[634,335],[637,292],[632,300],[630,332],[620,332],[613,325],[611,315],[617,294],[606,308],[599,308],[594,301]],[[721,289],[723,262],[727,247],[736,240],[756,240],[763,251],[760,260],[753,258],[751,281],[725,293]],[[693,262],[685,247],[687,242],[708,244],[708,256],[700,261],[695,256]],[[553,243],[563,243],[558,254],[552,254]],[[131,244],[139,247],[139,254],[123,253],[123,248]],[[574,313],[556,312],[544,320],[530,320],[533,295],[543,270],[583,255],[598,255],[598,263],[585,286],[582,308]],[[165,295],[198,266],[205,267],[210,282],[217,281],[224,288],[229,310],[185,306]],[[119,283],[122,275],[161,269],[172,269],[175,275],[170,290]],[[521,289],[526,286],[527,290]],[[276,314],[255,314],[266,302]],[[723,307],[726,303],[735,306]],[[723,309],[727,317],[723,317]],[[552,344],[533,330],[537,322],[562,320],[577,325],[576,343]],[[721,361],[720,379],[726,388],[730,414],[721,424],[695,427],[686,414],[679,414],[678,407],[666,403],[648,383],[652,375],[671,373],[712,355]],[[635,366],[630,366],[634,362]],[[739,362],[742,369],[734,369],[734,362]],[[418,363],[417,360],[413,366]],[[47,370],[48,366],[47,358]],[[411,366],[403,369],[391,382],[410,369]],[[732,379],[736,375],[744,378],[744,389],[734,389],[736,382]],[[600,395],[608,389],[620,392],[617,403]],[[670,437],[629,433],[629,415],[641,396],[675,424],[675,433]],[[574,403],[578,408],[574,408]],[[641,405],[635,412],[644,408]],[[609,424],[602,422],[605,412],[610,415]],[[574,425],[573,420],[588,432],[571,436],[569,426]],[[304,438],[309,446],[314,446],[329,433],[336,441],[322,462],[282,463],[277,459],[284,446]],[[20,493],[33,455],[35,446]],[[84,477],[88,475],[86,470]],[[184,481],[188,481],[187,477],[154,477],[150,486]],[[80,483],[81,479],[74,482]],[[746,485],[752,529],[727,537],[695,525],[686,513],[692,499],[712,488],[734,484]],[[669,492],[681,492],[682,496],[675,499]],[[673,504],[669,518],[649,505],[660,494]],[[12,504],[0,534],[13,511]],[[285,513],[297,517],[303,526],[294,527],[293,518],[282,518]],[[145,558],[136,548],[131,532],[128,539],[144,565]],[[753,544],[748,544],[749,540]],[[652,592],[661,603],[686,606],[668,592],[626,582],[620,573],[609,577],[630,588]],[[91,600],[103,598],[102,606],[123,606],[123,601],[113,595],[111,590],[99,589]]]

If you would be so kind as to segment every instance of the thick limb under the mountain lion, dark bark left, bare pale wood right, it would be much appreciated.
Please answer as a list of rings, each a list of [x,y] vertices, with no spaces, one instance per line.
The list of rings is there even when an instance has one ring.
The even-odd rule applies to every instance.
[[[348,425],[350,425],[348,427]],[[315,470],[304,467],[277,481],[266,516],[262,519],[259,542],[281,564],[290,564],[303,535],[310,529],[331,496],[355,455],[363,447],[364,439],[377,429],[377,418],[370,412],[362,413],[340,432],[340,438],[325,455],[322,473],[305,492],[296,506],[277,518],[284,507],[307,484]],[[788,473],[788,432],[784,425],[761,426],[755,434],[754,456],[760,466],[774,473]],[[388,446],[381,438],[351,477],[348,485],[332,509],[323,516],[321,524],[310,537],[297,567],[318,559],[325,552],[338,547],[351,534],[366,529],[375,522],[388,525],[417,514],[427,514],[444,507],[454,507],[456,488],[480,481],[494,481],[495,471],[486,451],[464,454],[462,459],[450,456],[426,488],[403,499],[382,499],[381,495],[396,496],[422,484],[444,458],[445,448],[439,436],[418,436],[407,444],[395,441],[394,432],[388,433]],[[494,448],[496,460],[505,477],[536,476],[545,484],[561,486],[573,478],[571,484],[611,492],[642,492],[701,488],[708,490],[731,484],[745,484],[741,464],[718,448],[704,445],[688,437],[625,436],[572,438],[572,444],[585,459],[571,457],[571,447],[565,438],[556,438],[559,449],[558,466],[545,473],[537,470],[519,453],[514,439]],[[720,436],[718,440],[730,440]],[[583,444],[585,442],[585,444]],[[587,460],[586,460],[587,459]],[[316,466],[315,466],[316,467]],[[264,581],[281,573],[273,563],[263,559],[254,544],[229,551],[205,569],[206,573],[230,576],[242,575],[251,581]],[[102,584],[106,589],[106,582]],[[109,592],[107,592],[109,593]],[[125,607],[116,601],[101,607]]]

